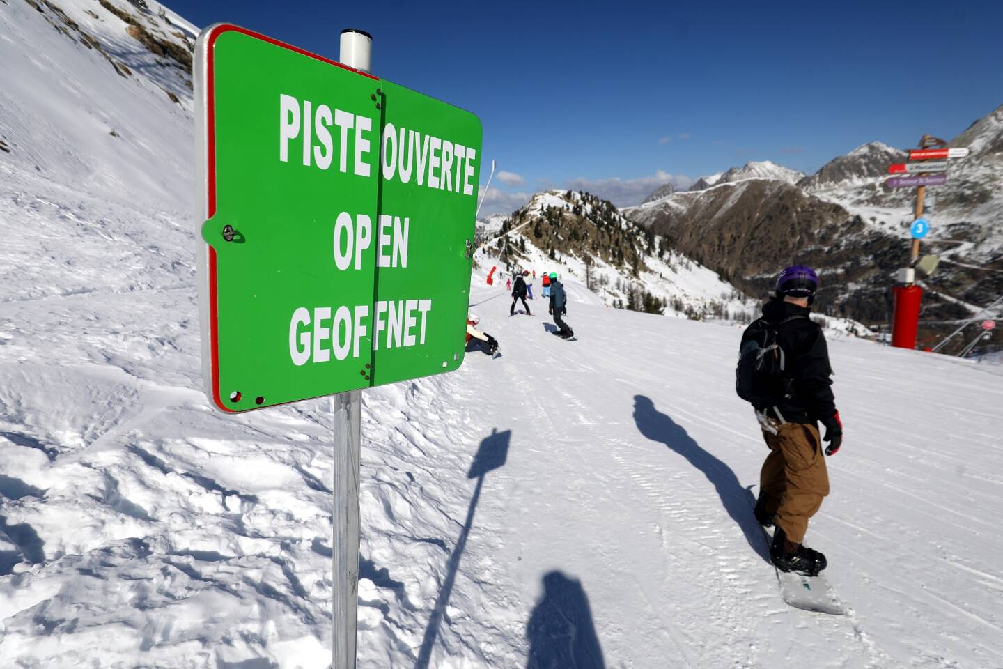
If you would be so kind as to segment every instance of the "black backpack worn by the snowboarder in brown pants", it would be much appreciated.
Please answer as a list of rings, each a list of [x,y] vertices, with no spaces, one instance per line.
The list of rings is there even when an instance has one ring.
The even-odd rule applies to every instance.
[[[793,379],[787,375],[787,354],[777,341],[777,329],[798,318],[807,316],[787,316],[779,323],[760,318],[745,331],[735,367],[735,392],[753,406],[776,406],[793,396]]]

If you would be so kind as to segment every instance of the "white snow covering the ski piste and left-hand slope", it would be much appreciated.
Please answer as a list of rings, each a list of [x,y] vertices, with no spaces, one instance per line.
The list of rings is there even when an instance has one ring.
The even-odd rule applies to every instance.
[[[135,74],[0,4],[0,667],[323,669],[327,402],[198,390],[190,93],[61,6]],[[537,288],[509,317],[476,273],[503,357],[363,393],[360,668],[1003,666],[1003,368],[832,338],[808,543],[850,614],[808,614],[750,512],[740,329],[573,275],[565,342]]]

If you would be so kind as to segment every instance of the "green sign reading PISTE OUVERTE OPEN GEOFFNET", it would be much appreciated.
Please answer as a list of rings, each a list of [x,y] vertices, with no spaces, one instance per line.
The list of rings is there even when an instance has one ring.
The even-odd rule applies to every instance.
[[[472,113],[233,25],[197,48],[207,392],[244,411],[463,361]]]

